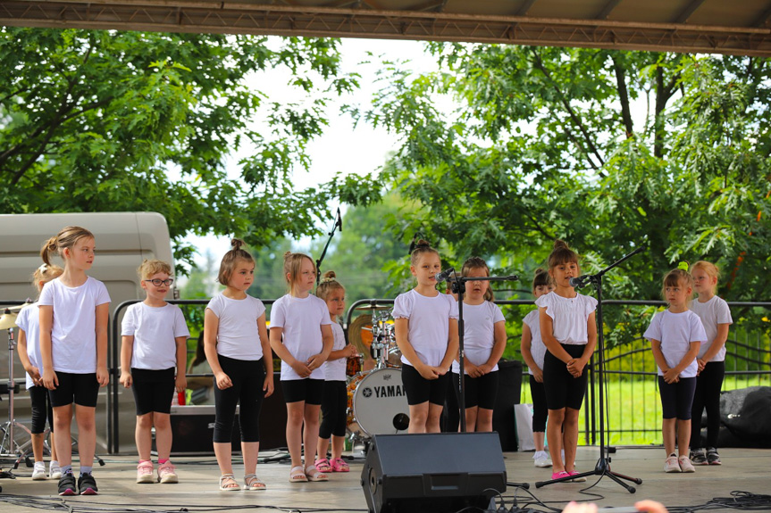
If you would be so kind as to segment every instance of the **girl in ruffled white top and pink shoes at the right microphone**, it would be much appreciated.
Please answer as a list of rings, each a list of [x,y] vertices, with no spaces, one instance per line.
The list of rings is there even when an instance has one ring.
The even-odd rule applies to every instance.
[[[575,451],[578,446],[578,415],[586,393],[586,364],[597,345],[594,310],[597,300],[575,292],[571,277],[578,277],[578,254],[564,241],[556,240],[549,254],[549,276],[554,292],[542,295],[538,305],[541,339],[547,353],[543,358],[543,386],[549,407],[546,437],[552,461],[552,479],[578,474]],[[560,454],[565,450],[565,459]],[[576,477],[574,481],[586,481]]]

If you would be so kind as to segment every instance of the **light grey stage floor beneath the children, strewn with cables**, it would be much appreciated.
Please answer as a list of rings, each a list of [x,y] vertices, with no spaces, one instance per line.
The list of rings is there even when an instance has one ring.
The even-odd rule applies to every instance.
[[[264,451],[261,457],[275,454]],[[661,447],[617,448],[611,454],[611,467],[627,476],[639,477],[642,484],[633,484],[637,492],[627,492],[607,476],[591,488],[593,494],[581,490],[597,482],[589,477],[586,483],[550,484],[536,488],[536,481],[549,479],[550,469],[535,468],[532,452],[504,454],[509,482],[529,483],[530,490],[509,486],[504,494],[506,507],[516,497],[520,506],[537,500],[561,508],[566,501],[594,501],[600,507],[631,506],[634,501],[654,499],[667,508],[697,507],[716,498],[731,497],[735,491],[755,494],[771,493],[771,450],[723,449],[722,466],[696,467],[694,474],[666,474],[664,450]],[[426,457],[430,457],[426,455]],[[599,458],[599,448],[580,447],[577,458],[579,471],[591,470]],[[40,508],[71,511],[205,511],[227,509],[280,509],[293,511],[366,511],[365,495],[359,484],[364,459],[351,462],[348,474],[332,474],[327,483],[290,484],[289,463],[268,462],[257,466],[268,489],[264,492],[220,492],[214,457],[174,458],[180,476],[179,484],[135,484],[136,459],[133,456],[103,456],[105,467],[96,467],[100,488],[96,497],[59,497],[52,480],[32,481],[31,468],[14,470],[16,479],[2,479],[0,509],[26,513]],[[5,464],[7,469],[8,465]],[[77,468],[77,464],[76,464]],[[236,476],[243,476],[243,467],[236,466]],[[542,507],[538,507],[543,509]],[[716,509],[711,506],[710,509]],[[723,508],[725,510],[729,508]],[[771,509],[771,504],[767,509]]]

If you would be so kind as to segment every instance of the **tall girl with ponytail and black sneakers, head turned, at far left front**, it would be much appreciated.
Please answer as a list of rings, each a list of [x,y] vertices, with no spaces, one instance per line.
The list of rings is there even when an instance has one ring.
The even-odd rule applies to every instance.
[[[96,450],[96,398],[110,381],[107,372],[107,323],[110,294],[102,282],[88,277],[94,263],[94,235],[85,228],[63,228],[40,250],[46,265],[58,252],[62,276],[43,286],[38,302],[43,385],[54,408],[56,454],[62,467],[59,495],[95,495],[91,474]],[[80,477],[72,476],[70,424],[76,405]]]

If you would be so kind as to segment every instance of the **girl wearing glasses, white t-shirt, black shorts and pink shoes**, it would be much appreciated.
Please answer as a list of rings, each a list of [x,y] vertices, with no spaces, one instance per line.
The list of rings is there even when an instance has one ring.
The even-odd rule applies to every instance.
[[[130,305],[123,315],[121,346],[121,385],[134,393],[137,426],[134,437],[139,461],[137,483],[152,483],[153,461],[150,451],[158,450],[159,483],[177,483],[176,468],[169,459],[172,451],[172,394],[187,386],[190,332],[180,307],[165,301],[172,287],[172,266],[159,260],[146,260],[137,269],[145,301]]]

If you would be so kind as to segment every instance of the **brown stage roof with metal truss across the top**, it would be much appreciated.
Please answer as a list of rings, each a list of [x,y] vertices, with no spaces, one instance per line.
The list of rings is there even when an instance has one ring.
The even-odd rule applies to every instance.
[[[21,27],[771,56],[769,0],[0,0]]]

